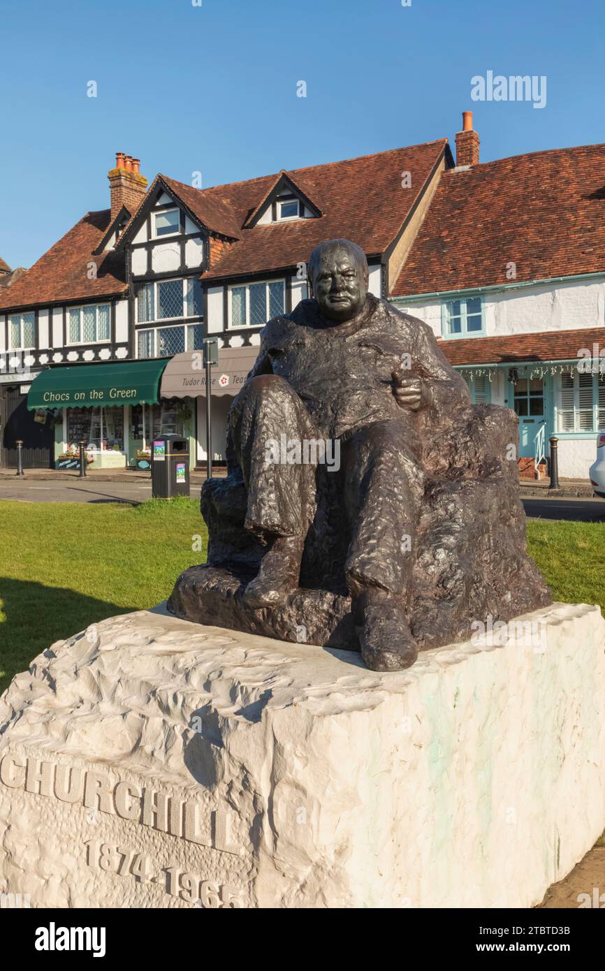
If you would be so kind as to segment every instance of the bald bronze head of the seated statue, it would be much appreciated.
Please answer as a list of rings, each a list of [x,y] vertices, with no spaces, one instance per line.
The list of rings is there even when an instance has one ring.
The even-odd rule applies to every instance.
[[[368,295],[368,263],[350,240],[328,240],[311,253],[307,277],[323,317],[339,323],[355,317]]]

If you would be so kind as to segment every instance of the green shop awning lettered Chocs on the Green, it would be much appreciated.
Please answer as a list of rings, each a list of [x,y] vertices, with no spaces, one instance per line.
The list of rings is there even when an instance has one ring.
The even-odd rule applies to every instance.
[[[115,408],[155,405],[168,359],[108,361],[50,367],[34,379],[27,394],[30,411],[38,408]]]

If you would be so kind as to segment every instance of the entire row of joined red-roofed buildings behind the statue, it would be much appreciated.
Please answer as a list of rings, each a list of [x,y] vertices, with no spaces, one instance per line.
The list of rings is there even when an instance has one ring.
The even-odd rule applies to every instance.
[[[3,464],[18,437],[26,464],[49,465],[84,436],[97,466],[133,465],[160,430],[186,434],[201,462],[194,355],[208,335],[220,459],[260,329],[307,295],[313,248],[346,237],[368,257],[372,292],[433,327],[474,400],[515,409],[521,472],[544,468],[555,433],[561,475],[588,476],[605,425],[605,146],[480,163],[467,112],[455,162],[441,139],[208,189],[158,175],[148,189],[118,152],[109,182],[110,209],[10,286],[0,267]],[[30,396],[28,411],[42,368],[59,393],[69,369],[78,399]],[[101,403],[95,386],[136,393]]]

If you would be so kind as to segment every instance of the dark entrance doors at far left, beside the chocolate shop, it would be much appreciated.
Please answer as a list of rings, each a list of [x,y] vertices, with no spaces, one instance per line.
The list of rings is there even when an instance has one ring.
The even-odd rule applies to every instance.
[[[20,393],[18,385],[4,388],[3,398],[0,434],[5,468],[17,468],[18,439],[23,443],[23,468],[53,468],[54,429],[49,412],[28,411],[27,395]]]

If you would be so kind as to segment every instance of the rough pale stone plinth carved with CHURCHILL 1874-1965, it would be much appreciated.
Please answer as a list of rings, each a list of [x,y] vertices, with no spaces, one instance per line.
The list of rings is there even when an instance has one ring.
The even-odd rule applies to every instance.
[[[163,608],[55,644],[0,700],[0,891],[532,906],[605,826],[605,621],[522,620],[397,674]]]

